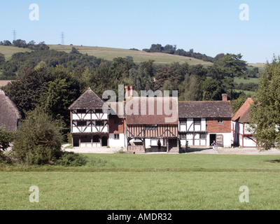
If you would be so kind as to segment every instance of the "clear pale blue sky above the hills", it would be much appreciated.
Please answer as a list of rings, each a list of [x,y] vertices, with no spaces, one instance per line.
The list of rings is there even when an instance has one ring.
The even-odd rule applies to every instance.
[[[171,44],[248,63],[280,55],[279,0],[0,0],[0,21],[0,41],[12,42],[15,30],[27,43],[59,44],[63,32],[65,45]]]

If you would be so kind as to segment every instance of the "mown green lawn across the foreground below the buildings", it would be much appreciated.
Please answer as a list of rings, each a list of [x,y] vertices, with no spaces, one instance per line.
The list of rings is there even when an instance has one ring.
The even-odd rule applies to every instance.
[[[85,155],[84,167],[9,167],[0,209],[279,209],[275,155]],[[25,172],[22,170],[25,169]],[[38,186],[39,202],[29,202]],[[249,202],[239,202],[248,186]]]

